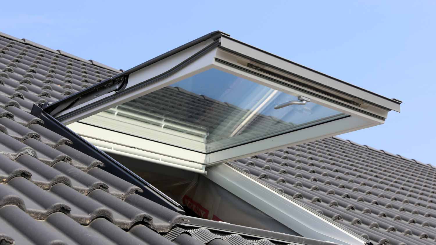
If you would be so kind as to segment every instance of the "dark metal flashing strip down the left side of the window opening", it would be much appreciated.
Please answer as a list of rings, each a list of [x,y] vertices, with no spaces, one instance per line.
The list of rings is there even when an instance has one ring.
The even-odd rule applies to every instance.
[[[105,164],[105,171],[140,187],[143,192],[138,193],[138,195],[142,195],[166,208],[184,214],[184,210],[180,204],[159,191],[153,185],[150,185],[147,181],[130,171],[128,168],[124,167],[123,164],[120,164],[118,161],[111,158],[103,151],[100,151],[79,135],[75,134],[75,132],[65,127],[65,125],[61,124],[58,120],[54,119],[54,117],[43,110],[45,106],[47,105],[40,104],[38,106],[37,104],[34,104],[31,114],[42,119],[42,121],[44,121],[44,126],[50,128],[51,131],[71,140],[73,142],[72,148],[103,162]]]

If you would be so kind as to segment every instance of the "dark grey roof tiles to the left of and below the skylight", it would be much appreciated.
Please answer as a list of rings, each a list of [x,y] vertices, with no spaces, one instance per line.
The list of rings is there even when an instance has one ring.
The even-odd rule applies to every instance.
[[[178,227],[184,215],[137,193],[30,114],[119,72],[0,33],[0,244],[287,244]],[[208,239],[208,240],[207,240]]]

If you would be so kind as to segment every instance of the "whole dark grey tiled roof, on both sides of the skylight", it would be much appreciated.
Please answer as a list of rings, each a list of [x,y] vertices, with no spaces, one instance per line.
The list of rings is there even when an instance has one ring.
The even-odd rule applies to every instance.
[[[0,244],[253,243],[174,228],[182,215],[137,195],[29,114],[116,69],[0,33],[0,70]],[[428,164],[338,138],[232,163],[376,244],[434,244]]]

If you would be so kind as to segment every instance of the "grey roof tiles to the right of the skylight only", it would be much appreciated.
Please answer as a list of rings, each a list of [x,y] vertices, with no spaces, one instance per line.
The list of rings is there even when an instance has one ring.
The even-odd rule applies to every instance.
[[[326,138],[232,164],[375,244],[434,244],[436,169]]]

